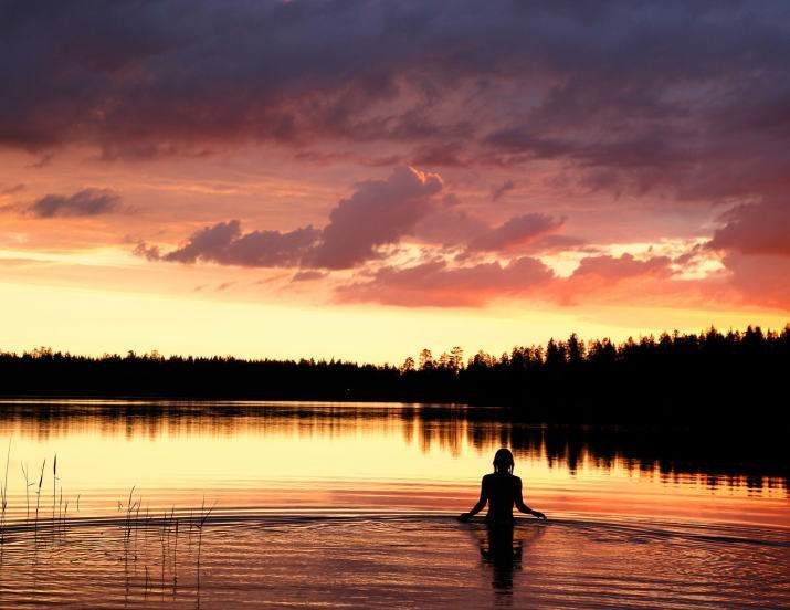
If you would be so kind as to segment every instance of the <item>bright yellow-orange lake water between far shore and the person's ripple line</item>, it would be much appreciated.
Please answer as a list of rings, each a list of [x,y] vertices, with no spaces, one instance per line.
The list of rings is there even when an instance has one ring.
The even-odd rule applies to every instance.
[[[55,509],[62,493],[70,516],[77,495],[80,515],[117,512],[133,486],[150,511],[206,497],[227,513],[460,513],[505,445],[527,503],[550,516],[790,527],[771,453],[750,462],[757,450],[731,443],[526,427],[462,407],[7,401],[0,433],[11,441],[12,519],[28,517],[21,464],[38,483],[46,460],[40,499],[52,511],[55,454]]]

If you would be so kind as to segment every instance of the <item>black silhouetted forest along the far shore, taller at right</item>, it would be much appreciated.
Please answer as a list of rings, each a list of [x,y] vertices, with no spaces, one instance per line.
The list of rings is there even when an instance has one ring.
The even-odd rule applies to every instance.
[[[401,366],[157,353],[0,354],[3,396],[462,402],[565,423],[788,425],[790,325],[663,334],[614,344],[576,335],[509,354],[423,349]]]

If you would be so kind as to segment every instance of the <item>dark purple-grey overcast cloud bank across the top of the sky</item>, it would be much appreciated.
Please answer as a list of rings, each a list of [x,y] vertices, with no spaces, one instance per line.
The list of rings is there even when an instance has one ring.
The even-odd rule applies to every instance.
[[[25,0],[0,40],[0,144],[33,151],[399,143],[685,199],[790,173],[787,2]]]

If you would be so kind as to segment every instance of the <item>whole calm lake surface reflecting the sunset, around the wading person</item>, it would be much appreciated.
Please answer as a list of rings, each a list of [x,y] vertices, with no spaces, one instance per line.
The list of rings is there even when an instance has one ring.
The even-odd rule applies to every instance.
[[[0,607],[790,606],[788,464],[759,442],[108,400],[2,401],[0,441]],[[454,518],[503,445],[549,516],[512,537]]]

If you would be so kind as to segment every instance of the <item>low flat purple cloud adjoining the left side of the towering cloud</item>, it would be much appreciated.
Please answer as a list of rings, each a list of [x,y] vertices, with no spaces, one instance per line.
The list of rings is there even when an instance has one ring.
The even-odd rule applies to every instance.
[[[240,266],[296,266],[319,231],[303,227],[294,231],[251,231],[243,233],[239,220],[219,222],[197,231],[181,248],[159,255],[162,261],[194,263],[213,262]],[[138,254],[151,257],[158,251],[138,246]]]

